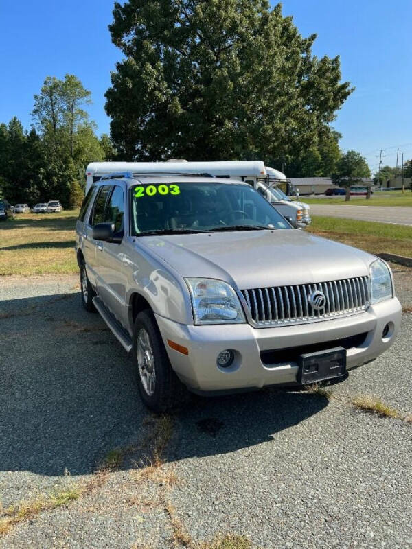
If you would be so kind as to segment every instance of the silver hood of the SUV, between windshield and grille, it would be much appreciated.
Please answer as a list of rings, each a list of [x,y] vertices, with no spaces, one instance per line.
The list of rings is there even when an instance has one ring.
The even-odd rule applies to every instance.
[[[373,255],[299,230],[139,237],[182,277],[225,280],[240,290],[369,274]]]

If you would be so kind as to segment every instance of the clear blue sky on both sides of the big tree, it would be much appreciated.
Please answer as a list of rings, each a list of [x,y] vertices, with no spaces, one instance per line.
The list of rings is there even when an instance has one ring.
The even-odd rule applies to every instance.
[[[30,127],[33,95],[47,75],[76,74],[93,93],[91,117],[108,132],[104,92],[122,54],[107,30],[112,0],[0,1],[0,121],[13,115]],[[304,36],[316,33],[314,53],[341,56],[343,80],[356,91],[338,113],[334,127],[341,148],[366,156],[378,167],[395,165],[396,150],[412,158],[411,0],[284,0]]]

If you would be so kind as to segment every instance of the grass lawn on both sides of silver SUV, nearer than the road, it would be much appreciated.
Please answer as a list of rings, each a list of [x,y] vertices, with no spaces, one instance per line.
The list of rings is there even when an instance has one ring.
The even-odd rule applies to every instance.
[[[77,216],[78,211],[25,213],[0,222],[0,276],[78,272]],[[315,216],[308,231],[371,253],[412,257],[412,227]]]

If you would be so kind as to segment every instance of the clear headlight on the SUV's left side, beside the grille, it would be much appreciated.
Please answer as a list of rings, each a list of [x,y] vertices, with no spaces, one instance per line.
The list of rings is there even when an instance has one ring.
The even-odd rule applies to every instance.
[[[242,305],[231,285],[215,279],[185,279],[192,298],[195,324],[245,322]]]

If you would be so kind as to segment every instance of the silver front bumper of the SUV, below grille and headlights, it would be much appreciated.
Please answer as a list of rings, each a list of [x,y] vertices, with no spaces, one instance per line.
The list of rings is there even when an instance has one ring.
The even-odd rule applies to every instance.
[[[374,360],[389,349],[400,327],[398,299],[371,305],[366,312],[305,325],[255,329],[249,324],[182,325],[156,315],[170,362],[181,381],[198,391],[262,388],[266,385],[296,384],[297,362],[264,364],[261,353],[290,349],[366,334],[358,347],[347,349],[347,369]],[[382,331],[389,323],[386,338]],[[168,340],[186,347],[188,355],[171,349]],[[217,366],[221,351],[232,349],[235,360],[227,369]]]

